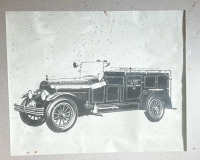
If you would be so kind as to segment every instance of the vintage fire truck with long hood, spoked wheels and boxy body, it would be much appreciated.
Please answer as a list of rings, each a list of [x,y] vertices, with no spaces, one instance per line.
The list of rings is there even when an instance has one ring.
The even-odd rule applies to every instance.
[[[82,76],[82,66],[101,63],[102,72]],[[144,110],[147,119],[158,122],[171,104],[171,71],[111,68],[106,60],[73,63],[80,67],[78,78],[50,78],[39,89],[22,96],[21,105],[14,104],[21,120],[30,126],[46,122],[54,132],[66,132],[77,117],[102,116],[105,112]]]

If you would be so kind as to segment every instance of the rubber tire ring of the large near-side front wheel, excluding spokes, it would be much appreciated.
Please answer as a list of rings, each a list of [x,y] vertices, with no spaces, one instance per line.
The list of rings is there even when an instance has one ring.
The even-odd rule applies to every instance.
[[[74,121],[67,128],[59,128],[59,127],[55,126],[55,124],[52,121],[53,109],[61,102],[69,103],[72,106],[73,111],[75,113]],[[49,129],[51,129],[53,132],[67,132],[74,126],[74,124],[76,123],[77,117],[78,117],[78,109],[77,109],[76,103],[70,98],[58,98],[55,101],[53,101],[52,103],[50,103],[46,109],[46,124],[49,127]]]

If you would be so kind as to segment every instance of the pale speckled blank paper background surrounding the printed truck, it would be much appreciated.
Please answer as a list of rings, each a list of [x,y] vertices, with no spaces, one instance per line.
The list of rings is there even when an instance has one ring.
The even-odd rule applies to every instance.
[[[6,12],[11,155],[182,151],[182,11]],[[24,124],[14,103],[45,75],[76,77],[74,61],[172,71],[172,104],[158,123],[143,111],[79,117],[66,133]]]

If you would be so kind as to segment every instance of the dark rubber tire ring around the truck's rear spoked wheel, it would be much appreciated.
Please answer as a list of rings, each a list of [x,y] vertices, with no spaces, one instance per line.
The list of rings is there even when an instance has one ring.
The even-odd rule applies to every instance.
[[[162,107],[163,107],[163,113],[162,113],[162,115],[159,118],[156,118],[156,119],[151,116],[150,109],[149,109],[149,106],[148,106],[152,99],[159,99],[161,101]],[[146,101],[146,108],[147,108],[147,110],[146,110],[146,112],[144,112],[145,116],[151,122],[159,122],[163,118],[163,116],[164,116],[165,107],[166,107],[166,105],[165,105],[165,102],[164,102],[164,99],[162,98],[162,96],[159,96],[159,94],[150,95],[147,98],[147,101]]]

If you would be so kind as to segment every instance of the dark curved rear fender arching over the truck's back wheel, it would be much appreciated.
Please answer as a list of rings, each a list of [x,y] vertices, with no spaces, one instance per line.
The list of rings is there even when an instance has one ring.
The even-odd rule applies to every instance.
[[[149,91],[147,91],[146,94],[144,94],[142,99],[141,99],[139,109],[140,110],[146,110],[148,98],[151,97],[152,95],[155,95],[155,94],[162,97],[162,99],[165,102],[165,108],[166,109],[173,109],[171,99],[170,99],[169,95],[167,94],[167,92],[160,91],[160,90],[153,90],[153,91],[149,90]]]

